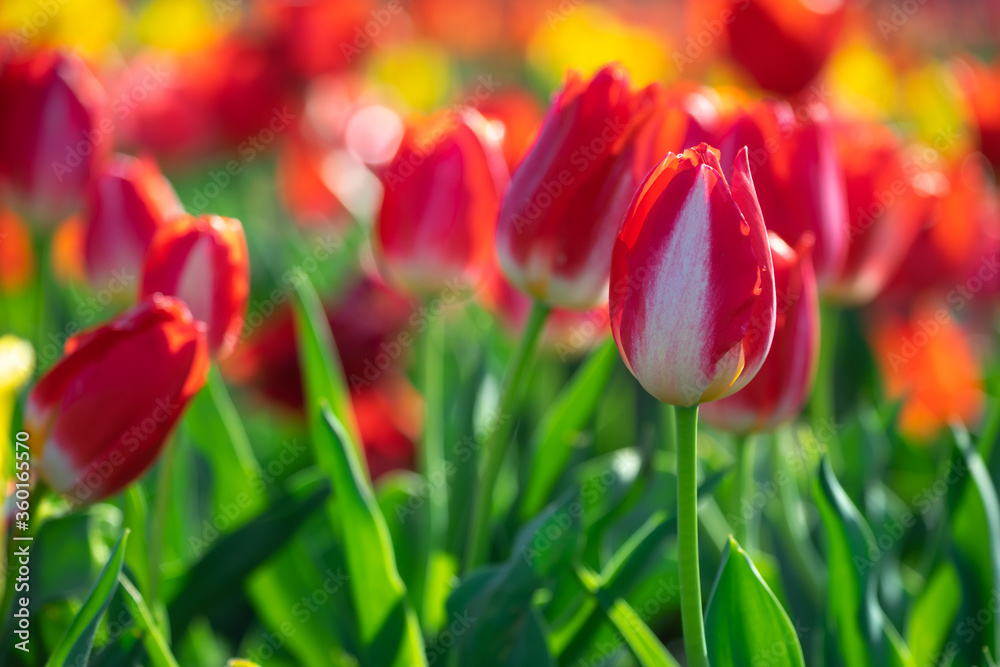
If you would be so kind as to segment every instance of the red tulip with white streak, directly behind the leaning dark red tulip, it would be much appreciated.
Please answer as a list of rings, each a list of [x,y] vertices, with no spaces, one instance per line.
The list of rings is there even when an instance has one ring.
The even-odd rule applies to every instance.
[[[246,238],[238,220],[182,216],[160,227],[142,268],[142,296],[176,296],[208,325],[208,346],[224,359],[236,347],[250,292]]]

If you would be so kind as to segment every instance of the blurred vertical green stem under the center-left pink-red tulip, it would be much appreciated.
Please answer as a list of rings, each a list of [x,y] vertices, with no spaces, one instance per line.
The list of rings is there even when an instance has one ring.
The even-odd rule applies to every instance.
[[[444,329],[432,319],[422,343],[424,392],[424,437],[421,451],[428,487],[428,519],[431,549],[440,549],[448,530],[448,487],[444,474]]]

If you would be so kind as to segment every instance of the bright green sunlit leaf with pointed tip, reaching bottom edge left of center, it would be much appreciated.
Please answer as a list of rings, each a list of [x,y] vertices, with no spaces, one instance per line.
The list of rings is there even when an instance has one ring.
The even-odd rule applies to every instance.
[[[337,415],[320,399],[322,424],[313,428],[320,468],[333,481],[336,503],[328,503],[331,521],[349,527],[344,551],[349,586],[362,643],[362,664],[426,665],[423,637],[396,569],[396,557],[385,518],[375,501]]]

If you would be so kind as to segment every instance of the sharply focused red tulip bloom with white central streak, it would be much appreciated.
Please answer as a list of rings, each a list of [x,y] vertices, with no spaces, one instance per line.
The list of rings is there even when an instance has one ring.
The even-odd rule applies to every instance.
[[[622,359],[664,403],[714,401],[753,379],[774,336],[775,288],[746,150],[731,189],[705,144],[649,173],[615,240],[610,311]]]

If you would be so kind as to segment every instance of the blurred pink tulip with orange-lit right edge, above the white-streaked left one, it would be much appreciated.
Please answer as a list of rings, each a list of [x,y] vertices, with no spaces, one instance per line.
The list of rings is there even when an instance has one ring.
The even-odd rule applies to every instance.
[[[156,230],[184,213],[151,159],[116,155],[97,176],[87,201],[84,248],[95,286],[135,280]]]

